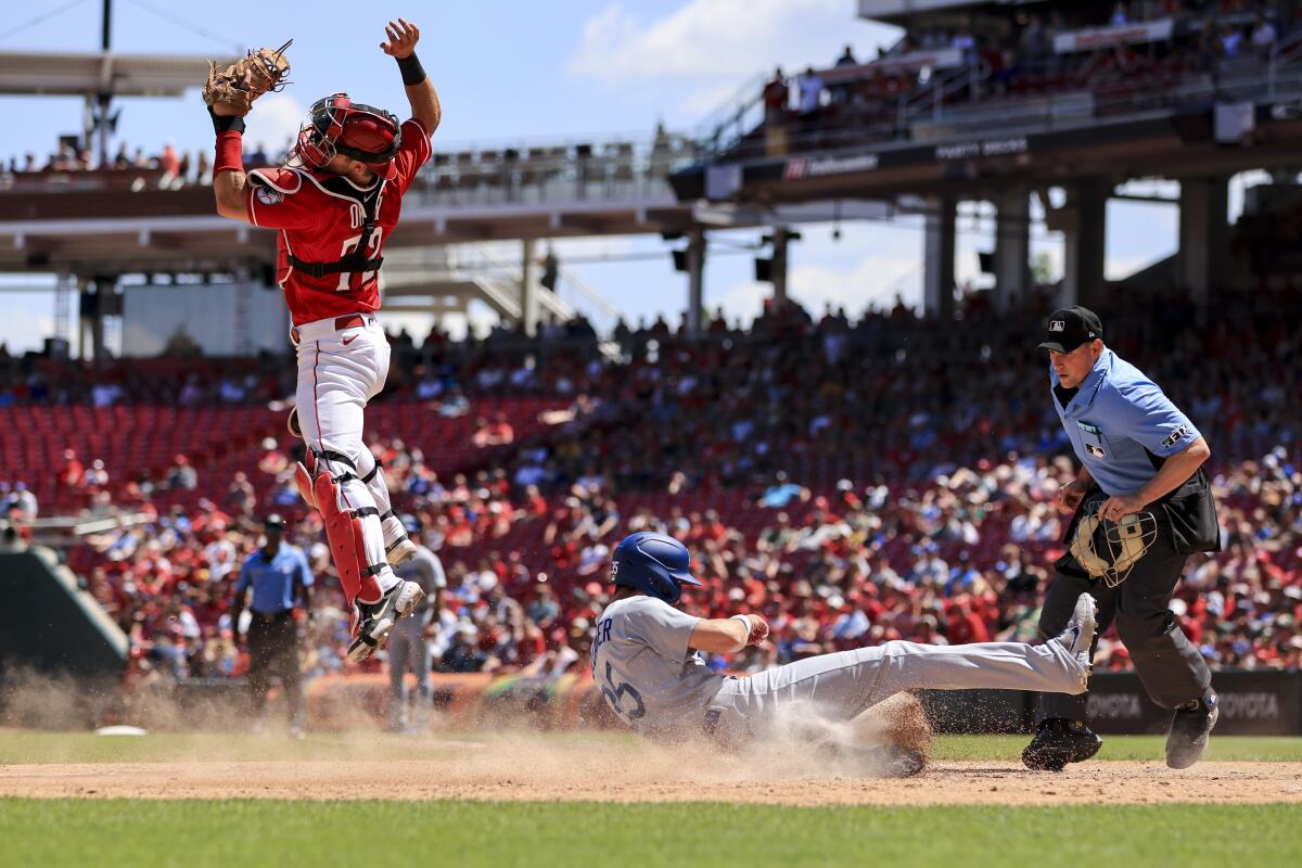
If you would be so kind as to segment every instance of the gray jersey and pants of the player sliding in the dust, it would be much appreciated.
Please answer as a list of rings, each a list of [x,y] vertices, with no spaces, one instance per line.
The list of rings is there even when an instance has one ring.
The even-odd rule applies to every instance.
[[[596,622],[592,677],[607,704],[642,735],[706,731],[737,743],[773,734],[786,711],[848,721],[888,696],[924,687],[1083,691],[1081,664],[1057,642],[888,642],[751,677],[721,675],[687,647],[698,621],[663,600],[634,596],[608,605]]]

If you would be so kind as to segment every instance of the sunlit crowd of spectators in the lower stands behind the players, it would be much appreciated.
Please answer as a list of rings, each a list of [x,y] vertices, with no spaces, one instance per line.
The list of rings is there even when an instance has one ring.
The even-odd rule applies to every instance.
[[[401,444],[395,487],[430,476]],[[445,608],[430,642],[439,671],[581,673],[591,625],[608,601],[609,550],[637,530],[684,539],[706,584],[685,596],[702,616],[763,613],[773,642],[719,666],[751,671],[892,639],[928,643],[1035,640],[1046,580],[1061,554],[1065,517],[1053,506],[1072,478],[1065,459],[1009,457],[926,484],[814,495],[792,483],[760,487],[727,518],[710,508],[656,509],[608,495],[600,483],[544,495],[517,492],[499,474],[458,476],[409,504],[423,541],[448,573]],[[246,480],[236,480],[232,492]],[[785,509],[754,502],[780,489]],[[1215,665],[1302,664],[1302,468],[1282,449],[1217,474],[1225,550],[1195,558],[1172,604]],[[240,675],[247,665],[229,601],[243,557],[259,544],[254,498],[202,502],[107,532],[72,554],[86,587],[128,631],[137,668],[160,678]],[[755,513],[759,522],[755,523]],[[750,530],[738,527],[738,519]],[[323,530],[303,513],[288,537],[303,545],[319,583],[303,619],[307,670],[344,669],[348,616]],[[371,664],[372,666],[378,664]],[[1112,635],[1096,665],[1126,669]]]

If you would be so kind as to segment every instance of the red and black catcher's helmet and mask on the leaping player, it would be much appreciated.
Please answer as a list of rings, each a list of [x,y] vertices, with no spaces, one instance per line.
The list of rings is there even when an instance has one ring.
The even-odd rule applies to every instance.
[[[303,165],[320,169],[341,154],[387,177],[388,164],[401,146],[402,129],[395,115],[354,103],[348,94],[331,94],[307,111],[293,155]]]

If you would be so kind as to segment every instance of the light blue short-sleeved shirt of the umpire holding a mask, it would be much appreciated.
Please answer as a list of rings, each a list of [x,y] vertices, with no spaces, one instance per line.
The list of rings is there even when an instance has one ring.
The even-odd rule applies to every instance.
[[[1198,429],[1143,371],[1104,349],[1064,407],[1049,364],[1049,396],[1075,457],[1109,497],[1133,495],[1161,461],[1198,440]]]

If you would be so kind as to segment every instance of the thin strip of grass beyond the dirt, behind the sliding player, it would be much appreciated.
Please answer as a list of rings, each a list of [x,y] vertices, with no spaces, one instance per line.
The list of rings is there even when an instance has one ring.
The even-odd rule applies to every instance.
[[[536,738],[536,734],[533,735]],[[510,733],[439,733],[417,739],[380,733],[312,733],[306,740],[284,737],[227,733],[151,733],[145,737],[105,737],[94,733],[0,731],[0,765],[26,763],[158,763],[169,760],[436,760],[462,750],[457,742],[510,739]],[[633,743],[618,733],[555,733],[557,743]],[[991,760],[1018,763],[1026,735],[943,735],[936,739],[937,760]],[[1109,735],[1100,760],[1160,761],[1161,735]],[[1208,760],[1302,763],[1302,738],[1212,738]]]

